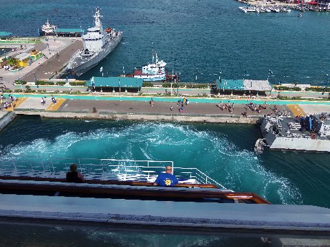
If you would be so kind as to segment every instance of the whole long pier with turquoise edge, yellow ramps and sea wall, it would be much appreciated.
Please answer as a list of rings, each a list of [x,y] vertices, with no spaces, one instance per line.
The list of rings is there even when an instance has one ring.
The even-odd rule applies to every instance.
[[[23,96],[23,95],[22,95]],[[63,97],[65,96],[65,97]],[[45,104],[41,104],[44,97]],[[25,95],[20,97],[14,106],[7,110],[13,110],[17,115],[40,115],[41,117],[72,118],[72,119],[122,119],[135,121],[184,121],[200,123],[228,123],[228,124],[256,124],[264,115],[275,114],[274,105],[269,104],[261,113],[248,110],[245,100],[235,103],[232,112],[221,110],[219,103],[191,102],[179,112],[181,104],[177,104],[176,97],[151,97],[132,98],[125,95],[54,95],[56,103],[51,101],[50,95]],[[79,99],[83,97],[82,99]],[[85,98],[87,97],[87,99]],[[166,99],[167,101],[164,101]],[[262,99],[261,99],[262,100]],[[239,102],[239,99],[219,99],[219,102]],[[232,103],[230,103],[232,104]],[[261,102],[260,102],[261,104]],[[278,112],[287,116],[315,114],[330,112],[330,104],[278,104]],[[247,113],[245,117],[243,113]]]

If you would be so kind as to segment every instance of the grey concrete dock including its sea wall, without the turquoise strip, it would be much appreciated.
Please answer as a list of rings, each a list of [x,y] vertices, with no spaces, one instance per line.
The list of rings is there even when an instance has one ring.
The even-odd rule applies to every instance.
[[[217,104],[190,103],[184,106],[183,113],[179,113],[177,102],[154,102],[149,104],[149,97],[145,101],[131,100],[78,100],[63,99],[56,96],[56,103],[52,103],[50,97],[45,99],[45,105],[41,104],[41,98],[26,97],[20,104],[14,107],[17,114],[41,115],[42,117],[82,118],[82,119],[127,119],[145,121],[193,121],[203,123],[236,123],[256,124],[263,115],[272,112],[272,107],[262,113],[248,110],[248,117],[242,113],[247,111],[244,104],[237,104],[230,113],[221,110]],[[124,99],[124,97],[123,97]],[[171,110],[172,106],[172,110]],[[287,106],[278,106],[278,110],[289,113]]]

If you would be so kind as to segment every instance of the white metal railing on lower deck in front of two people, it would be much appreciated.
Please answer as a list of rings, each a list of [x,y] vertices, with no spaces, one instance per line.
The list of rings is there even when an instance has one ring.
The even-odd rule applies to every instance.
[[[173,174],[179,183],[213,184],[217,183],[197,168],[174,167],[173,161],[135,161],[112,158],[47,158],[39,156],[0,156],[0,176],[38,176],[47,178],[65,178],[70,165],[76,163],[78,171],[86,179],[123,180],[154,182],[158,174],[164,172],[166,165],[173,167]]]

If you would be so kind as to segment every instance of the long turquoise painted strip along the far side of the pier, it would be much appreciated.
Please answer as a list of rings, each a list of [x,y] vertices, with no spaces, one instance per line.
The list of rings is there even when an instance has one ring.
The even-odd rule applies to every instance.
[[[5,94],[5,97],[8,97],[9,94]],[[15,97],[50,97],[50,95],[45,94],[33,94],[33,95],[25,95],[25,94],[12,94]],[[137,96],[93,96],[93,95],[56,95],[57,97],[61,97],[63,99],[87,99],[87,100],[131,100],[131,101],[143,101],[148,102],[151,97],[137,97]],[[155,102],[177,102],[178,99],[182,99],[182,97],[152,97]],[[190,103],[219,103],[219,102],[228,102],[234,104],[247,104],[248,102],[253,102],[256,104],[263,104],[264,102],[267,102],[267,104],[277,104],[277,105],[287,105],[287,104],[324,104],[324,105],[330,105],[329,101],[296,101],[296,100],[269,100],[269,99],[221,99],[221,98],[189,98]]]

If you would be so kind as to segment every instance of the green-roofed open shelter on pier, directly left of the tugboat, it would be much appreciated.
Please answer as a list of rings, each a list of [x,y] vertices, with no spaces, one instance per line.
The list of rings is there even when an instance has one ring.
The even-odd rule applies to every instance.
[[[142,78],[94,76],[87,82],[86,86],[93,91],[137,92],[140,91],[142,83]]]

